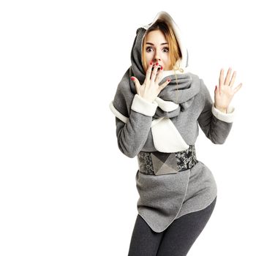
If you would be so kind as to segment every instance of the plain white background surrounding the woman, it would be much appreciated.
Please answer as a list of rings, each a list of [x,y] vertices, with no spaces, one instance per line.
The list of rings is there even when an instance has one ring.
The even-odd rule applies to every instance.
[[[137,159],[119,151],[109,103],[135,31],[172,15],[189,66],[214,96],[219,71],[243,83],[225,144],[203,132],[214,213],[188,255],[255,255],[253,1],[1,1],[0,255],[127,255]]]

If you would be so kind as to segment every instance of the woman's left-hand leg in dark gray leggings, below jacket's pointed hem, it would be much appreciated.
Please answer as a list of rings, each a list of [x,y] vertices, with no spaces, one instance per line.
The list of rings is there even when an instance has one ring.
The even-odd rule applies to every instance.
[[[155,256],[162,239],[162,233],[156,233],[148,226],[146,221],[138,214],[132,238],[129,245],[128,256]]]

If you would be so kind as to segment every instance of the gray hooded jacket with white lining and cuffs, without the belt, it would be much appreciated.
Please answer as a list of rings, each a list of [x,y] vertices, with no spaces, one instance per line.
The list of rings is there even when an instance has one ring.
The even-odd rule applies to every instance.
[[[182,59],[177,61],[177,69],[164,72],[161,83],[168,78],[171,81],[151,103],[136,93],[130,77],[138,78],[140,84],[145,80],[141,61],[143,37],[146,29],[159,19],[173,29]],[[181,31],[167,12],[159,12],[152,23],[136,31],[131,61],[110,102],[110,110],[116,116],[118,148],[123,154],[136,157],[140,151],[184,151],[195,145],[198,125],[213,143],[225,142],[232,127],[234,108],[229,107],[227,113],[214,108],[203,80],[189,72]],[[200,161],[188,170],[165,175],[146,175],[138,170],[135,178],[140,195],[138,214],[155,232],[162,232],[184,214],[206,208],[217,196],[214,176]]]

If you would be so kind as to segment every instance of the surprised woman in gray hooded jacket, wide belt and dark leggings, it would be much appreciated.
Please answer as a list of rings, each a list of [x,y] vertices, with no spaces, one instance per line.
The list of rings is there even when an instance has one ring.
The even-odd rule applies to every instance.
[[[189,72],[178,26],[159,12],[136,31],[129,67],[110,109],[118,148],[138,157],[138,217],[129,255],[187,255],[217,200],[211,170],[196,158],[198,124],[213,143],[225,142],[233,123],[236,72],[224,70],[214,102],[203,80]]]

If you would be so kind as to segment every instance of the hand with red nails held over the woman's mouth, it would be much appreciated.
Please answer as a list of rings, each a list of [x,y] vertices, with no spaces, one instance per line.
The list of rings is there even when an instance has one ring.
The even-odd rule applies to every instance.
[[[164,89],[168,83],[170,83],[170,79],[168,79],[165,81],[165,83],[162,83],[162,85],[159,86],[159,82],[162,79],[163,69],[160,69],[157,73],[158,63],[155,64],[153,70],[152,65],[153,63],[151,62],[151,64],[148,66],[143,85],[140,85],[140,82],[137,78],[131,77],[135,83],[137,94],[139,94],[140,97],[143,97],[143,99],[146,99],[148,102],[154,102],[154,99],[157,98],[159,92],[162,91],[162,89]]]

